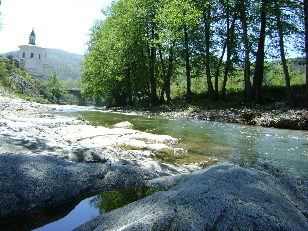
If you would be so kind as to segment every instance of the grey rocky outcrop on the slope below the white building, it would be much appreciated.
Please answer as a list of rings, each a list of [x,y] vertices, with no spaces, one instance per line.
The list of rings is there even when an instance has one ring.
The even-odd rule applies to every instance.
[[[16,73],[10,74],[7,78],[10,80],[11,84],[14,84],[14,88],[16,88],[15,91],[20,92],[21,94],[28,97],[40,98],[39,92],[36,90],[33,84],[25,78],[22,78]]]

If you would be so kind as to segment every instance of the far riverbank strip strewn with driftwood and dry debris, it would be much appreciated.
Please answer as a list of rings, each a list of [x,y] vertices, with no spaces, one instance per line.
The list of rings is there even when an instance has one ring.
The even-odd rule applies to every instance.
[[[225,123],[257,125],[269,128],[286,128],[294,130],[308,130],[308,110],[292,108],[267,108],[265,110],[251,109],[203,109],[173,108],[161,106],[159,108],[144,108],[140,110],[125,110],[112,108],[115,111],[159,114],[187,119],[212,120]],[[109,109],[110,110],[110,109]]]

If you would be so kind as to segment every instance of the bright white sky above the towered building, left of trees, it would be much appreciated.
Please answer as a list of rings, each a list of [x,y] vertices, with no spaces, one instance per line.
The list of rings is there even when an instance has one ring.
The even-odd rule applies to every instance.
[[[34,29],[36,45],[84,54],[94,19],[111,0],[1,0],[0,53],[27,45]]]

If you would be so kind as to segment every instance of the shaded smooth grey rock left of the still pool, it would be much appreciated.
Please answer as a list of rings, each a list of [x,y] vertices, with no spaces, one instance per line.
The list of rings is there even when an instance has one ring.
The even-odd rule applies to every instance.
[[[135,166],[76,164],[53,156],[0,155],[0,218],[32,213],[157,175]]]

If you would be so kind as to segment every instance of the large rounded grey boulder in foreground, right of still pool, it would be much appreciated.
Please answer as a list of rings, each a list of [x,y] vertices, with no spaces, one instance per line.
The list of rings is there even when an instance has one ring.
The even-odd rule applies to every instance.
[[[289,176],[268,164],[222,162],[148,184],[171,188],[95,217],[74,231],[308,230],[306,198]]]

